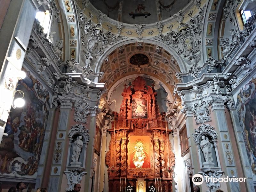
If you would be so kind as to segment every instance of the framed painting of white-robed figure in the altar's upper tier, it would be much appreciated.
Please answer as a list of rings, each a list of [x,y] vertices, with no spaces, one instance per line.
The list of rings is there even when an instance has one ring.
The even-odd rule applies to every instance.
[[[132,119],[148,118],[148,102],[146,99],[132,99]]]

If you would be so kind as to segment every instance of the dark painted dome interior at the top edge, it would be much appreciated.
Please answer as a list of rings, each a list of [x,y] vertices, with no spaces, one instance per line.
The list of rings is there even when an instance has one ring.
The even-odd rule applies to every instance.
[[[91,4],[109,18],[128,24],[150,24],[165,20],[183,9],[191,0],[90,0]]]

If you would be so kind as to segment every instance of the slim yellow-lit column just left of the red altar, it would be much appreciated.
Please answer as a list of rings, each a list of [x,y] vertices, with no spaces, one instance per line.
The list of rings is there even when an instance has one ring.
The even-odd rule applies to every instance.
[[[107,123],[106,123],[107,124]],[[102,131],[102,147],[100,153],[100,172],[99,172],[99,191],[104,190],[104,182],[105,182],[105,167],[106,167],[106,151],[107,151],[107,130],[109,127],[105,125]],[[106,181],[107,182],[107,181]]]

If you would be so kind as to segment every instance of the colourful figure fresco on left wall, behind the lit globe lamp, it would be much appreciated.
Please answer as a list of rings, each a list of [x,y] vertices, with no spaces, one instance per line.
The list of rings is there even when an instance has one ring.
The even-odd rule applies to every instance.
[[[0,145],[0,172],[34,175],[40,160],[46,119],[50,109],[49,92],[30,72],[19,81],[17,90],[25,94],[23,108],[11,109]]]

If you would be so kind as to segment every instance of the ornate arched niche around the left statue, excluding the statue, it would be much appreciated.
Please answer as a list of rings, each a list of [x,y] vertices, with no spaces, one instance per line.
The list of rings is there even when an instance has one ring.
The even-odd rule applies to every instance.
[[[74,163],[74,161],[72,161],[72,155],[74,151],[74,144],[77,138],[82,140],[83,145],[81,147],[81,152],[79,154],[78,163]],[[74,166],[85,167],[86,149],[87,149],[87,144],[89,143],[89,140],[90,140],[89,130],[85,129],[84,125],[82,124],[73,125],[71,126],[71,129],[68,131],[68,140],[69,140],[69,148],[68,148],[67,167],[74,167]]]

